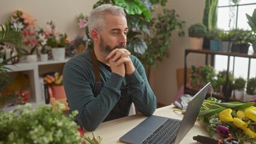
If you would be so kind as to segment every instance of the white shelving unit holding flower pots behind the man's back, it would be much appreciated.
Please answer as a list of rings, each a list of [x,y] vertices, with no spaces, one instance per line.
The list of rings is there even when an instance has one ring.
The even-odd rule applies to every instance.
[[[29,77],[29,103],[31,103],[32,108],[36,108],[38,104],[43,104],[44,101],[41,98],[41,88],[40,88],[40,77],[43,77],[44,73],[50,73],[50,72],[56,72],[62,73],[62,69],[66,62],[70,58],[66,58],[62,61],[56,61],[56,60],[49,60],[46,62],[19,62],[15,65],[5,65],[5,67],[10,68],[11,70],[8,70],[10,73],[14,72],[20,72],[22,74],[26,74],[26,76]],[[17,105],[15,106],[9,106],[5,104],[5,106],[2,108],[4,112],[8,112],[10,110],[17,109]]]

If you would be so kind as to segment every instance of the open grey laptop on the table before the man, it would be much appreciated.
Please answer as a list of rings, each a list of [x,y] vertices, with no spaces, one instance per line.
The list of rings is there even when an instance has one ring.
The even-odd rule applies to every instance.
[[[120,141],[125,143],[180,143],[195,124],[209,86],[210,82],[190,100],[182,121],[162,116],[148,116],[120,137]]]

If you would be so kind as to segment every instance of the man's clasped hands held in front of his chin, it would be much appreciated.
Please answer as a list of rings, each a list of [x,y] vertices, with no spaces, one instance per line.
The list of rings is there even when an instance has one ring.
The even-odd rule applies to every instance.
[[[120,74],[123,76],[125,74],[129,75],[135,71],[135,67],[130,59],[130,52],[127,49],[114,49],[106,57],[106,61],[109,61],[111,71],[113,73]]]

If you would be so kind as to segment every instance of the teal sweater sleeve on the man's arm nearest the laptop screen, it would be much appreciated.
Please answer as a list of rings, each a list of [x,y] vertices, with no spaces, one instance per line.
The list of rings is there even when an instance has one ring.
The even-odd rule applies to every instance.
[[[135,66],[135,71],[130,75],[126,75],[131,98],[139,112],[145,116],[150,116],[156,110],[157,99],[150,88],[144,67],[135,56],[133,56],[133,65]]]

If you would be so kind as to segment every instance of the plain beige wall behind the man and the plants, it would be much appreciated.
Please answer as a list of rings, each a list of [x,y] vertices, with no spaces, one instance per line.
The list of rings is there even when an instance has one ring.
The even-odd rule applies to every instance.
[[[66,32],[70,38],[84,34],[78,28],[76,17],[82,12],[89,14],[97,0],[0,0],[0,24],[4,23],[13,11],[21,8],[36,19],[37,26],[44,28],[46,22],[53,20],[61,33]],[[169,0],[167,7],[174,9],[180,19],[186,21],[186,36],[178,38],[177,32],[171,37],[169,58],[165,58],[156,69],[151,70],[150,84],[159,103],[170,104],[177,94],[176,70],[184,67],[184,49],[189,49],[187,29],[191,24],[201,22],[203,18],[204,0]],[[160,7],[157,11],[162,11]],[[204,57],[189,56],[189,65],[203,65]]]

